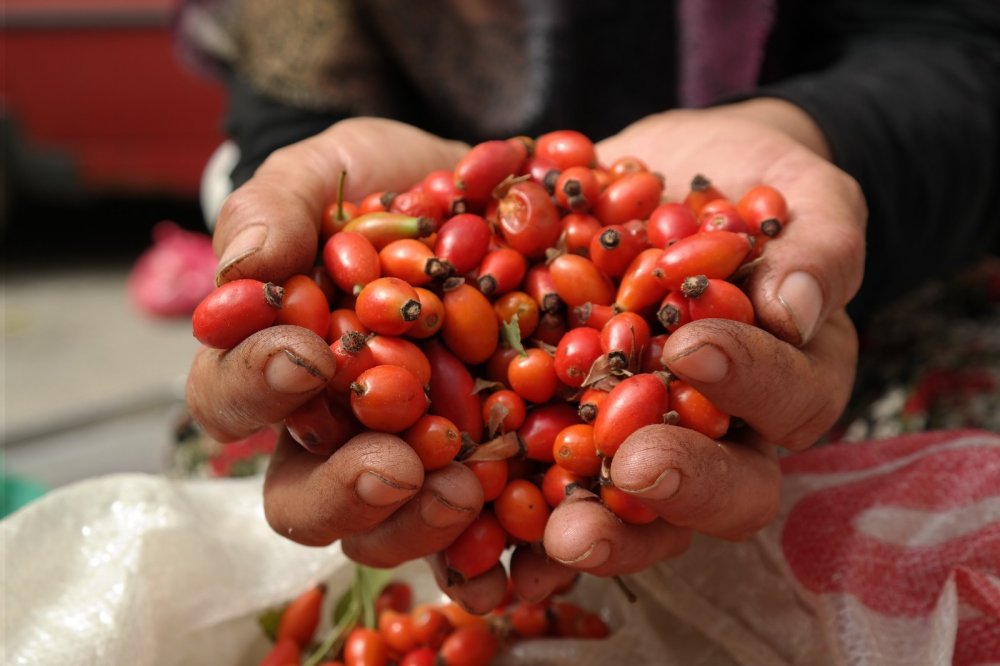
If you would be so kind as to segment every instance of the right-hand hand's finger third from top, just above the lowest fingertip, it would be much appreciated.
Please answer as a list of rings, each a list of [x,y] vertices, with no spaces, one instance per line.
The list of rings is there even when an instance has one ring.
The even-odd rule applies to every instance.
[[[781,472],[771,449],[709,439],[675,426],[647,426],[611,461],[614,484],[665,521],[741,540],[777,515]]]

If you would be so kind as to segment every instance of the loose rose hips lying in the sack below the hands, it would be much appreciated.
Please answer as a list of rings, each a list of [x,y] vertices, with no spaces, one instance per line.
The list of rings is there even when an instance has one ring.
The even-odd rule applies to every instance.
[[[355,587],[348,594],[359,591]],[[488,666],[518,641],[608,636],[604,619],[564,597],[568,591],[538,603],[508,595],[490,614],[473,615],[451,601],[415,604],[410,585],[392,580],[374,598],[371,626],[335,617],[341,620],[339,626],[327,636],[334,640],[317,645],[327,596],[327,587],[319,584],[276,616],[262,618],[272,645],[260,666],[298,666],[305,659],[319,666]],[[346,599],[342,597],[335,610],[342,609]]]

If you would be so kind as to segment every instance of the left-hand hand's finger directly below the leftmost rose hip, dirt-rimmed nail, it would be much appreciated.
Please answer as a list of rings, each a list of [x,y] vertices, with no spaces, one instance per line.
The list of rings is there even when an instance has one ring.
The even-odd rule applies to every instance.
[[[210,437],[229,442],[279,423],[336,372],[330,346],[299,326],[273,326],[230,350],[195,352],[184,397]]]

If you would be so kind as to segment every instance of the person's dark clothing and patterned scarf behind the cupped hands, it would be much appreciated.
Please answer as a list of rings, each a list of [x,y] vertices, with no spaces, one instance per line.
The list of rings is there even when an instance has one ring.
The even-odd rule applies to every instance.
[[[321,6],[319,19],[277,0],[243,4],[256,9],[237,22],[250,65],[237,59],[230,73],[237,184],[273,149],[351,115],[470,143],[561,128],[598,140],[671,107],[766,95],[815,118],[864,190],[857,320],[1000,236],[996,0],[301,4]],[[735,18],[734,4],[743,7]],[[277,25],[275,12],[296,16]],[[300,41],[283,70],[268,54],[287,50],[282,36],[301,39],[282,32],[296,23],[339,38],[322,53]],[[310,63],[325,92],[296,97],[319,80]]]

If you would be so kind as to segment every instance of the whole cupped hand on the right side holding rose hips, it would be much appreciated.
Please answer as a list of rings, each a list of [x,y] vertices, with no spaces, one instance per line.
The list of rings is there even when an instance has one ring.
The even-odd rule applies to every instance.
[[[742,540],[773,520],[778,449],[820,439],[853,386],[857,334],[845,306],[861,283],[866,208],[855,181],[829,162],[818,128],[778,100],[652,116],[599,150],[606,162],[646,161],[664,174],[673,201],[696,174],[733,200],[767,183],[784,194],[791,218],[746,283],[760,327],[697,321],[671,334],[663,350],[675,375],[745,424],[739,434],[716,441],[659,425],[625,441],[611,479],[660,520],[624,524],[586,491],[549,520],[551,560],[619,575],[682,553],[693,532]]]

